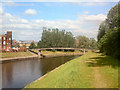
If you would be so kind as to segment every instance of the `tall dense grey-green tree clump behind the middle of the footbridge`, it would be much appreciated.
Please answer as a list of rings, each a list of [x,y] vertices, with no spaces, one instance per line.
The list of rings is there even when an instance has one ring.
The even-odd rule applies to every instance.
[[[71,32],[59,29],[43,29],[37,47],[74,47],[75,38]]]

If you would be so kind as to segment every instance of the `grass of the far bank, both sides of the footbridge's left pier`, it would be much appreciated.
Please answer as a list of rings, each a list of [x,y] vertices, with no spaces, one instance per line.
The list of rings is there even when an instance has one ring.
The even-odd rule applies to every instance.
[[[34,50],[34,51],[38,52],[37,50]],[[75,51],[75,52],[42,51],[41,53],[47,57],[82,54],[82,52],[80,52],[80,51]],[[31,54],[28,51],[27,52],[2,52],[2,53],[0,53],[0,57],[2,57],[2,58],[26,57],[26,56],[33,56],[33,55],[36,55],[36,54]]]

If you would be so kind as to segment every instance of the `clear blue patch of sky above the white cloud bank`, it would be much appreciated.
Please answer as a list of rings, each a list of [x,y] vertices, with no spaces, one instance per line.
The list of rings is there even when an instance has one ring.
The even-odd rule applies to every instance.
[[[12,15],[20,16],[25,19],[45,19],[45,20],[59,20],[59,19],[70,19],[75,20],[78,14],[82,14],[88,11],[88,15],[97,15],[99,13],[107,14],[112,6],[116,2],[106,2],[103,5],[84,5],[79,3],[60,3],[60,2],[16,2],[16,4],[21,5],[5,5],[3,9]],[[23,5],[22,5],[23,4]],[[37,11],[37,15],[28,17],[24,14],[27,9],[34,9]]]

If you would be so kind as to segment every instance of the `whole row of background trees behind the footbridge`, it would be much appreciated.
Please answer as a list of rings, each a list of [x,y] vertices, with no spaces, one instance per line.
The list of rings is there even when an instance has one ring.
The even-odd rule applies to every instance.
[[[47,29],[43,28],[41,40],[37,43],[37,46],[32,42],[30,49],[32,48],[50,48],[50,47],[73,47],[73,48],[87,48],[96,49],[97,42],[95,39],[89,39],[86,36],[77,36],[71,32],[65,30]]]

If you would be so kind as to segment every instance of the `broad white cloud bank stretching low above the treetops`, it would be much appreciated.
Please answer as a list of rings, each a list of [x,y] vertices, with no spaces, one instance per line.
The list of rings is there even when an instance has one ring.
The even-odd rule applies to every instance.
[[[88,13],[86,11],[86,13]],[[26,20],[9,13],[3,13],[3,31],[13,31],[13,37],[17,40],[40,40],[42,28],[59,28],[71,31],[76,35],[85,35],[96,38],[99,24],[106,18],[104,14],[78,15],[76,20]]]

